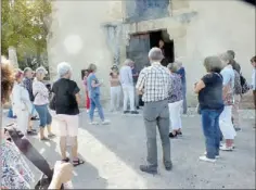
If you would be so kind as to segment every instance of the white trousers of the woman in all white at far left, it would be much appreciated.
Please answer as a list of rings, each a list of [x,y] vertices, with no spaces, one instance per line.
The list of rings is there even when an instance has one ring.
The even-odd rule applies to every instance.
[[[28,118],[29,112],[28,111],[16,111],[16,122],[17,122],[17,129],[21,130],[25,136],[27,135],[28,128]]]

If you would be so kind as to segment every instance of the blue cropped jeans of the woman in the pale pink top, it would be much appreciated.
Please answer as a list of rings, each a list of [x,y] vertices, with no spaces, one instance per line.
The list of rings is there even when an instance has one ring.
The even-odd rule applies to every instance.
[[[40,127],[46,127],[47,125],[52,124],[52,116],[48,110],[48,104],[44,105],[35,105],[35,109],[39,115]]]

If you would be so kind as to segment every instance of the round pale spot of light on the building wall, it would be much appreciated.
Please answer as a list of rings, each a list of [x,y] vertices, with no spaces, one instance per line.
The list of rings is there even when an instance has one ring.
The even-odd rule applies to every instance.
[[[78,35],[68,35],[64,39],[64,47],[67,53],[78,54],[82,49],[82,39]]]

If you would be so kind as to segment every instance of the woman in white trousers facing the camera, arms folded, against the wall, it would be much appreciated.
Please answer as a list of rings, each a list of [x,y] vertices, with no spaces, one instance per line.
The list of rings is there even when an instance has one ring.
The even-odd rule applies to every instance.
[[[117,66],[113,66],[110,74],[111,112],[117,111],[120,104],[120,81]]]

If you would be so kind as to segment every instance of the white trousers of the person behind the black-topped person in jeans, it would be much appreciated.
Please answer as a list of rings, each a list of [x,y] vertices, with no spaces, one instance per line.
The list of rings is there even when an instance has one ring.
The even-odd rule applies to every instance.
[[[225,139],[234,139],[236,132],[232,124],[232,105],[226,105],[219,116],[219,128]]]

